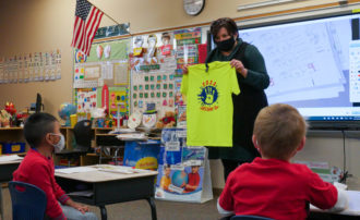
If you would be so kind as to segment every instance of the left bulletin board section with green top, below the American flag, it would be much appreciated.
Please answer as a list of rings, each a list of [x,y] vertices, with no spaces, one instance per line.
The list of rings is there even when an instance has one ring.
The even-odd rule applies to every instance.
[[[129,46],[130,39],[93,44],[89,56],[74,50],[74,103],[77,112],[91,112],[103,107],[101,91],[109,88],[107,109],[117,115],[117,105],[122,102],[120,112],[129,114]]]

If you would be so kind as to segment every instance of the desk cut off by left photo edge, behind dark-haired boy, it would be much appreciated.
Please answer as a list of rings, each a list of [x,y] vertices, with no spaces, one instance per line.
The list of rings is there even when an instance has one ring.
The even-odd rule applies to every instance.
[[[21,160],[0,161],[0,184],[12,180],[12,173],[17,169]],[[3,219],[2,186],[0,185],[0,216]]]

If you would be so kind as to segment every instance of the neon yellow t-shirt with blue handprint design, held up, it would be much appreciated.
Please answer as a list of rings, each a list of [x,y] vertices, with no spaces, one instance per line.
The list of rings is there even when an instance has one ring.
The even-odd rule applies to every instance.
[[[240,93],[230,62],[189,66],[181,93],[187,97],[187,145],[232,147],[232,94]]]

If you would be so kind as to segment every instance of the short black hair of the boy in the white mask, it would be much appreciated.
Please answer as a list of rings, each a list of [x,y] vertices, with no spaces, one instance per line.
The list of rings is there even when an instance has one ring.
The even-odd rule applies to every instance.
[[[47,133],[53,132],[53,122],[58,121],[49,113],[34,113],[28,117],[24,125],[24,136],[32,148],[41,144]]]

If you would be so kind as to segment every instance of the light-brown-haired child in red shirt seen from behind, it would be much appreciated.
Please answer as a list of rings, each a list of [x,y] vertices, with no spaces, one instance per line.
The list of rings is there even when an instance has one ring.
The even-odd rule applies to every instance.
[[[343,210],[347,194],[324,182],[304,164],[290,159],[304,147],[307,123],[288,105],[262,109],[255,120],[253,144],[261,154],[229,174],[218,199],[221,215],[252,215],[272,219],[305,219],[309,203]]]

